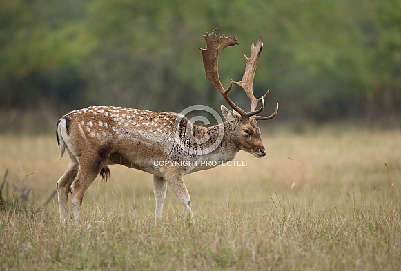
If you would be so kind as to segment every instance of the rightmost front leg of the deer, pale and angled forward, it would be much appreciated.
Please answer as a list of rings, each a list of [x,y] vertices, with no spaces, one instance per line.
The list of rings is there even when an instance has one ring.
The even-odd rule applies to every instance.
[[[168,181],[170,189],[175,194],[175,197],[177,197],[184,206],[186,218],[188,221],[194,223],[192,209],[190,208],[190,197],[182,174],[172,174],[172,176],[166,176],[165,178]]]

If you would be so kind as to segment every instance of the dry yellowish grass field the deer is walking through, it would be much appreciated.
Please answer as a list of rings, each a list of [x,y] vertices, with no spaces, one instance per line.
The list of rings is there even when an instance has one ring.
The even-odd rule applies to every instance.
[[[113,165],[79,230],[43,207],[68,164],[55,137],[0,136],[3,198],[32,189],[0,211],[0,270],[401,270],[401,131],[268,134],[263,159],[185,177],[195,225],[168,190],[155,226],[151,176]]]

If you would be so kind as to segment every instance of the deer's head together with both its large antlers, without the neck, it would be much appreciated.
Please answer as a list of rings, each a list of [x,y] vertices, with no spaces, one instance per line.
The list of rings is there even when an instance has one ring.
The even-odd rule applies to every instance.
[[[206,79],[211,81],[213,86],[215,86],[231,108],[233,108],[233,111],[231,111],[225,106],[222,106],[222,114],[224,118],[232,124],[232,136],[234,137],[233,140],[238,148],[253,154],[255,157],[264,157],[266,155],[266,149],[264,148],[260,137],[260,128],[257,126],[257,120],[272,119],[275,117],[278,112],[278,103],[275,112],[270,116],[257,116],[257,114],[262,112],[264,109],[264,98],[268,95],[268,91],[260,98],[256,98],[253,94],[253,79],[255,77],[257,61],[263,48],[262,36],[257,41],[256,46],[252,43],[251,57],[248,58],[244,54],[246,66],[242,80],[238,82],[231,80],[230,86],[225,89],[219,79],[219,54],[224,50],[224,48],[239,43],[235,37],[217,35],[216,30],[217,28],[215,28],[211,34],[206,33],[206,35],[204,35],[206,40],[206,49],[200,48],[204,61]],[[230,97],[228,97],[228,92],[231,90],[233,83],[240,86],[242,90],[244,90],[248,99],[251,100],[250,112],[246,112],[245,110],[242,110],[242,108],[239,108],[239,106],[233,103]],[[259,109],[256,109],[259,102],[262,102],[262,104]]]

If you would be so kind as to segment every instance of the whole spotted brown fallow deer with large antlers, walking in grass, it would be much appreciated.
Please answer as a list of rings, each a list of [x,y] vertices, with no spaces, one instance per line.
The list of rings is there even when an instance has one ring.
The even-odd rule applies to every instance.
[[[57,143],[60,157],[65,151],[70,156],[68,170],[57,181],[61,225],[68,222],[68,193],[72,196],[75,223],[81,217],[84,193],[98,174],[107,181],[108,165],[121,164],[153,174],[155,192],[155,222],[162,219],[167,184],[184,205],[186,217],[193,222],[190,196],[183,176],[213,168],[215,163],[200,161],[231,161],[239,150],[255,157],[264,157],[266,150],[260,137],[257,120],[271,119],[257,116],[264,109],[264,98],[253,94],[253,78],[262,51],[262,36],[251,46],[251,57],[245,57],[246,68],[242,80],[231,81],[224,89],[219,79],[218,57],[227,46],[239,44],[235,37],[204,35],[206,49],[202,49],[206,79],[222,94],[233,111],[221,106],[225,122],[204,127],[190,123],[182,114],[151,112],[114,106],[90,106],[69,112],[57,122]],[[251,100],[251,111],[245,112],[228,97],[233,83],[240,86]],[[262,102],[259,109],[257,104]],[[208,139],[206,142],[202,139]],[[217,143],[217,144],[216,144]],[[188,163],[157,163],[157,161],[188,161]],[[196,163],[195,163],[196,162]]]

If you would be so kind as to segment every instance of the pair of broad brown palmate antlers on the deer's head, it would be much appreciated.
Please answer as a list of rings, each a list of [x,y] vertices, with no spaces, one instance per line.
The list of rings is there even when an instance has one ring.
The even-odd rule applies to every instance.
[[[256,98],[255,95],[253,94],[253,78],[255,77],[257,60],[259,59],[260,52],[262,52],[263,48],[262,36],[260,36],[259,40],[256,43],[256,46],[254,46],[252,43],[251,57],[248,58],[244,54],[246,66],[242,80],[239,82],[231,80],[230,86],[228,86],[228,88],[225,89],[222,86],[222,83],[220,82],[219,78],[219,64],[218,64],[219,54],[227,46],[234,46],[239,43],[235,37],[216,35],[216,30],[217,28],[215,28],[211,34],[206,33],[206,35],[204,35],[204,38],[206,40],[206,49],[200,48],[200,50],[202,51],[202,56],[204,61],[206,79],[211,81],[213,86],[215,86],[215,88],[219,90],[219,92],[223,95],[224,99],[226,99],[227,103],[231,106],[231,108],[233,108],[235,111],[238,112],[238,114],[241,115],[242,119],[249,119],[249,117],[255,116],[256,114],[262,112],[262,110],[264,109],[264,98],[268,95],[268,91],[260,98]],[[251,100],[251,112],[245,112],[244,110],[242,110],[242,108],[239,108],[239,106],[233,103],[230,97],[228,97],[228,92],[231,90],[233,83],[235,83],[235,85],[237,86],[240,86],[244,90],[248,99]],[[257,103],[259,103],[260,101],[262,101],[262,106],[258,110],[256,110]],[[278,112],[278,103],[275,108],[275,112],[273,114],[266,117],[255,116],[255,119],[272,119],[273,117],[275,117],[277,112]]]

